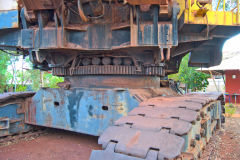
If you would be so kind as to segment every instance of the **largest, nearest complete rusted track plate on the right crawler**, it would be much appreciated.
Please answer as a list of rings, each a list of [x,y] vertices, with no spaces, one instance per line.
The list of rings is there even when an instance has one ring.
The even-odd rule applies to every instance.
[[[151,148],[159,150],[158,159],[173,159],[181,154],[184,139],[165,131],[152,132],[128,127],[109,127],[99,138],[104,148],[118,142],[115,152],[145,158]]]

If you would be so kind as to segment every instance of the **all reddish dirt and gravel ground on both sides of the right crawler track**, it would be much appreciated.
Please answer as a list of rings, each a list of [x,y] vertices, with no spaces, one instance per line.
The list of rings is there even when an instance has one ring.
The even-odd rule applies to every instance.
[[[101,149],[97,137],[53,130],[40,137],[0,146],[0,160],[88,160],[92,149]],[[240,117],[226,118],[201,160],[240,160]]]

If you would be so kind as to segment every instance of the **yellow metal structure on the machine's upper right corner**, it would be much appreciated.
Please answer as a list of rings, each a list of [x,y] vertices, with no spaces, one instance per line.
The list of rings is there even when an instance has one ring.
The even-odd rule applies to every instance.
[[[219,0],[216,10],[213,10],[212,2],[200,4],[198,0],[178,0],[180,5],[180,16],[184,16],[185,24],[205,25],[240,25],[239,0],[231,10],[226,10],[225,0]],[[223,3],[222,10],[219,10],[220,3]]]

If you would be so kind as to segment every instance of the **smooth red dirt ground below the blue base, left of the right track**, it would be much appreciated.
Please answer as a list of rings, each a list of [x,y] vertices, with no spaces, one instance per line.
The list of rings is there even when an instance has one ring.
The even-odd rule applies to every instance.
[[[101,149],[97,137],[57,130],[1,146],[0,160],[88,160],[92,149]]]

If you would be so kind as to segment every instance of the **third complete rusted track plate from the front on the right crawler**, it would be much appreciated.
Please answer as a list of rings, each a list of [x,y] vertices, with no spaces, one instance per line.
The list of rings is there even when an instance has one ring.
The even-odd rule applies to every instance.
[[[157,108],[157,107],[138,107],[129,113],[130,116],[143,115],[151,118],[176,118],[187,122],[197,119],[198,113],[185,108]]]

